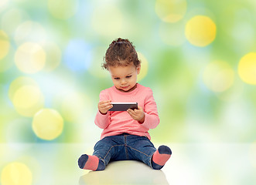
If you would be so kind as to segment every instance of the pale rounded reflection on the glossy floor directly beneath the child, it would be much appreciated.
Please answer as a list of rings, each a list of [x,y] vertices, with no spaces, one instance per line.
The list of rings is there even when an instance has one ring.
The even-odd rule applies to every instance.
[[[89,172],[80,177],[80,185],[85,184],[169,184],[162,170],[152,170],[138,161],[118,161],[109,163],[101,172]]]

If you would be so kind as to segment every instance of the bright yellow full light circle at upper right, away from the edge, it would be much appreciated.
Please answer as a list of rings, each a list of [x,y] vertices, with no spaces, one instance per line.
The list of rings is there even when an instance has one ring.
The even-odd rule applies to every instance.
[[[203,15],[196,15],[186,22],[186,39],[200,47],[209,45],[216,38],[217,28],[212,19]]]

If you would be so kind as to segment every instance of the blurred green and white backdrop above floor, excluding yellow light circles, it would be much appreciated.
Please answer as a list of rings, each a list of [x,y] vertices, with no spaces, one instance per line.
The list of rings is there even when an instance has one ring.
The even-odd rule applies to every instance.
[[[5,0],[0,7],[0,29],[8,35],[11,45],[8,55],[0,60],[1,143],[98,140],[101,130],[94,125],[98,95],[112,86],[101,62],[108,45],[118,37],[130,39],[148,62],[148,72],[139,82],[152,88],[159,109],[161,121],[155,130],[150,130],[152,140],[255,141],[256,89],[237,73],[241,58],[256,50],[254,1],[187,1],[186,13],[178,22],[163,22],[155,12],[155,1],[55,1],[54,10],[50,9],[51,2]],[[65,8],[66,2],[70,3],[69,8]],[[210,45],[198,47],[186,39],[186,22],[195,15],[208,16],[216,24],[217,35]],[[41,25],[43,35],[34,28],[25,39],[17,41],[17,28],[26,21]],[[173,30],[178,32],[178,42],[174,41]],[[24,42],[52,42],[60,49],[60,65],[34,74],[20,71],[14,55]],[[78,65],[72,64],[72,51],[67,54],[72,43],[77,44],[82,55]],[[79,49],[80,45],[84,48]],[[74,58],[78,52],[74,52]],[[224,61],[234,70],[234,83],[220,93],[213,92],[203,81],[204,70],[214,61]],[[54,61],[47,62],[50,65]],[[44,107],[56,109],[63,116],[63,133],[55,140],[39,139],[32,130],[32,117],[16,112],[8,93],[10,84],[19,76],[34,79],[43,92]],[[70,90],[81,95],[84,102],[79,106],[70,102],[70,107],[75,106],[79,113],[73,111],[72,119],[67,119],[69,109],[63,110],[67,99],[59,94]]]

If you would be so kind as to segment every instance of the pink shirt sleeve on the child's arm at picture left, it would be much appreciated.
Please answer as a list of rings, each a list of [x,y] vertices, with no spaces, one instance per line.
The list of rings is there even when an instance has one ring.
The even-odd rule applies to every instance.
[[[109,100],[108,93],[105,90],[101,91],[100,93],[100,101]],[[99,110],[97,110],[97,114],[94,119],[94,123],[101,129],[105,129],[108,127],[110,123],[109,111],[106,114],[102,114]]]

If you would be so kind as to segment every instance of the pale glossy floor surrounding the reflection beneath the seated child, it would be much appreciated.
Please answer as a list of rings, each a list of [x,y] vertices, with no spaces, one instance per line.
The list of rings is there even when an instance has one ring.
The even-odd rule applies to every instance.
[[[12,167],[9,175],[3,172],[11,163],[22,163],[32,173],[32,183],[19,185],[256,184],[255,143],[167,145],[172,156],[162,170],[152,170],[138,161],[118,161],[109,163],[104,171],[92,172],[77,165],[82,153],[92,152],[93,146],[87,144],[0,144],[1,180],[13,182],[8,185],[22,182],[24,170]]]

